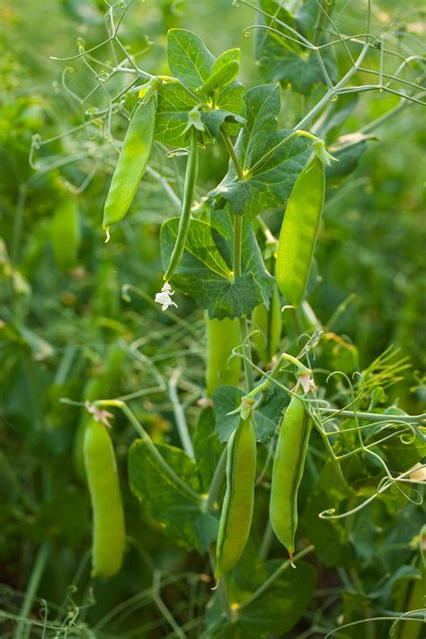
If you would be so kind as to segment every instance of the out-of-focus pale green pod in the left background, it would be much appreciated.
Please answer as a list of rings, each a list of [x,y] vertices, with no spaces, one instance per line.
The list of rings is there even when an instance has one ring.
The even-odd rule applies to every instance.
[[[55,262],[61,271],[75,266],[80,248],[80,216],[73,198],[64,200],[55,211],[50,226]]]

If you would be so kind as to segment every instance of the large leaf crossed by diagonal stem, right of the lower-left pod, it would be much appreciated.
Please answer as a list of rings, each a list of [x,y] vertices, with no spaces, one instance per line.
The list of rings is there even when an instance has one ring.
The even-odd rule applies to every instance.
[[[181,448],[164,444],[157,448],[182,481],[200,492],[197,466],[191,458]],[[142,439],[129,448],[129,484],[146,514],[179,546],[203,553],[217,538],[218,519],[171,482]]]

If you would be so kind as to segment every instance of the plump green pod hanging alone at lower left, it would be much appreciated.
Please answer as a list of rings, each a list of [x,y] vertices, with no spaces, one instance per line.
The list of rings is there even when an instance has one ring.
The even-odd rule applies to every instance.
[[[111,577],[122,564],[124,512],[111,438],[93,419],[84,432],[84,464],[93,510],[92,576]]]

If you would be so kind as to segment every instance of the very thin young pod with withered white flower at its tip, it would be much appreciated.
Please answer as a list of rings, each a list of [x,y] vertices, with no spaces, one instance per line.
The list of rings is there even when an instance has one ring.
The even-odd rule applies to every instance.
[[[195,182],[198,173],[198,133],[195,127],[191,127],[191,146],[188,155],[188,163],[186,164],[185,184],[183,187],[182,213],[179,221],[178,235],[176,244],[174,244],[172,255],[170,256],[167,271],[164,274],[164,280],[169,281],[173,276],[173,272],[181,262],[182,254],[185,249],[186,236],[191,224],[191,207],[194,200]]]

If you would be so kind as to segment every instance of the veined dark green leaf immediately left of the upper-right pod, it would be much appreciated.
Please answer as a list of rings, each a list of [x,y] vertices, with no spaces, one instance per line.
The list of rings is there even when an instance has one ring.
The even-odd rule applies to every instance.
[[[235,153],[244,173],[262,158],[265,152],[287,138],[291,131],[277,131],[280,113],[280,87],[264,84],[245,94],[246,123],[241,129]],[[221,208],[229,202],[231,213],[253,219],[263,209],[282,206],[287,200],[297,175],[306,164],[309,143],[296,138],[281,146],[264,164],[244,180],[238,180],[232,162],[225,178],[209,197]]]

